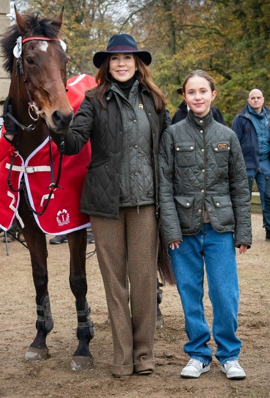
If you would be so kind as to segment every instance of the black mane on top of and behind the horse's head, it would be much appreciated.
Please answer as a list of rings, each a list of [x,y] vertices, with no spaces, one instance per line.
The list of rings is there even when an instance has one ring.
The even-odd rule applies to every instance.
[[[52,25],[53,20],[44,18],[39,20],[38,15],[25,14],[23,17],[27,20],[28,29],[24,37],[44,36],[51,39],[58,37],[59,29]],[[16,40],[20,36],[17,25],[10,26],[3,37],[0,39],[0,46],[4,58],[3,68],[11,77],[13,67],[13,49],[16,45]],[[23,38],[24,38],[23,37]]]

